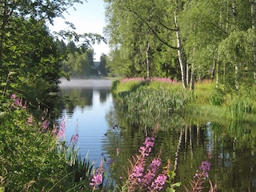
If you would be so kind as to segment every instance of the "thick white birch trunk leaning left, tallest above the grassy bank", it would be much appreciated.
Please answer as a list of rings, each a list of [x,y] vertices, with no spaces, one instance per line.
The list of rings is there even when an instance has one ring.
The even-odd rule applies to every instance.
[[[175,29],[176,29],[178,61],[179,61],[180,67],[181,67],[181,74],[182,74],[182,86],[184,87],[184,89],[186,89],[185,63],[183,62],[183,58],[182,58],[182,42],[181,42],[181,38],[179,35],[176,12],[174,12],[174,24],[175,24]]]

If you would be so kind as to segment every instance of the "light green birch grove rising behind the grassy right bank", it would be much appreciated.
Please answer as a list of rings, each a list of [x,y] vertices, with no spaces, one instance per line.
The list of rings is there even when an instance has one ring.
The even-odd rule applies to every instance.
[[[255,0],[105,0],[110,74],[254,83]]]

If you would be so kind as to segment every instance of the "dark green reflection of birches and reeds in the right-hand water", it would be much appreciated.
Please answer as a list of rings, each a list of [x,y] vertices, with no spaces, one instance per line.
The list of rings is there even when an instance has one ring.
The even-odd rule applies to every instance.
[[[118,145],[112,144],[121,149],[117,161],[122,165],[115,167],[116,179],[122,177],[118,170],[129,165],[126,160],[138,152],[146,133],[158,122],[154,156],[161,150],[163,162],[171,160],[176,182],[189,186],[201,162],[207,160],[211,163],[210,179],[217,182],[218,191],[256,191],[254,123],[226,122],[221,125],[214,119],[202,123],[197,119],[191,121],[186,114],[163,114],[163,118],[159,118],[161,115],[158,118],[132,117],[121,106],[115,107],[122,132],[116,141]],[[110,140],[114,141],[113,138]],[[114,158],[114,150],[111,147],[106,150]],[[184,188],[181,186],[177,191],[184,191]]]

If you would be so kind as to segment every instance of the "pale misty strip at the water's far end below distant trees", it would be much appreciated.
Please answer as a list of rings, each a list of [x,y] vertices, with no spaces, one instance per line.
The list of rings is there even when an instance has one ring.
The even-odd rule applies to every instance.
[[[112,80],[106,78],[72,78],[70,81],[67,81],[65,78],[61,78],[60,81],[60,87],[110,88],[112,84]]]

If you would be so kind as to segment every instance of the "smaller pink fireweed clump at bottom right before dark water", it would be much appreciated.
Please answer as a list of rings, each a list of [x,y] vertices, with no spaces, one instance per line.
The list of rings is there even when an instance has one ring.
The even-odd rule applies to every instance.
[[[217,185],[215,184],[213,186],[212,182],[209,179],[208,171],[210,170],[210,162],[202,161],[201,166],[199,167],[199,170],[196,171],[194,174],[194,179],[190,181],[190,186],[186,187],[185,190],[187,192],[201,192],[204,187],[203,184],[208,180],[210,183],[210,190],[209,192],[215,192],[217,191]]]

